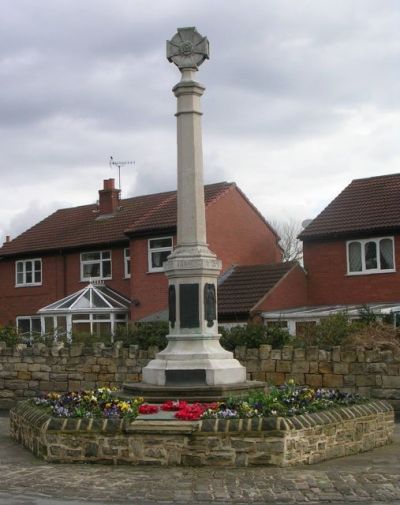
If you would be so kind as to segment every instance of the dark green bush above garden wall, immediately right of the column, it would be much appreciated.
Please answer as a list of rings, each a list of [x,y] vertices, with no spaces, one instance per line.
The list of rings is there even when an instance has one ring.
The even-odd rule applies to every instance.
[[[233,328],[220,327],[221,345],[228,351],[235,347],[246,346],[258,348],[262,344],[270,344],[275,349],[280,349],[291,341],[288,331],[276,326],[268,327],[262,324],[247,324]]]

